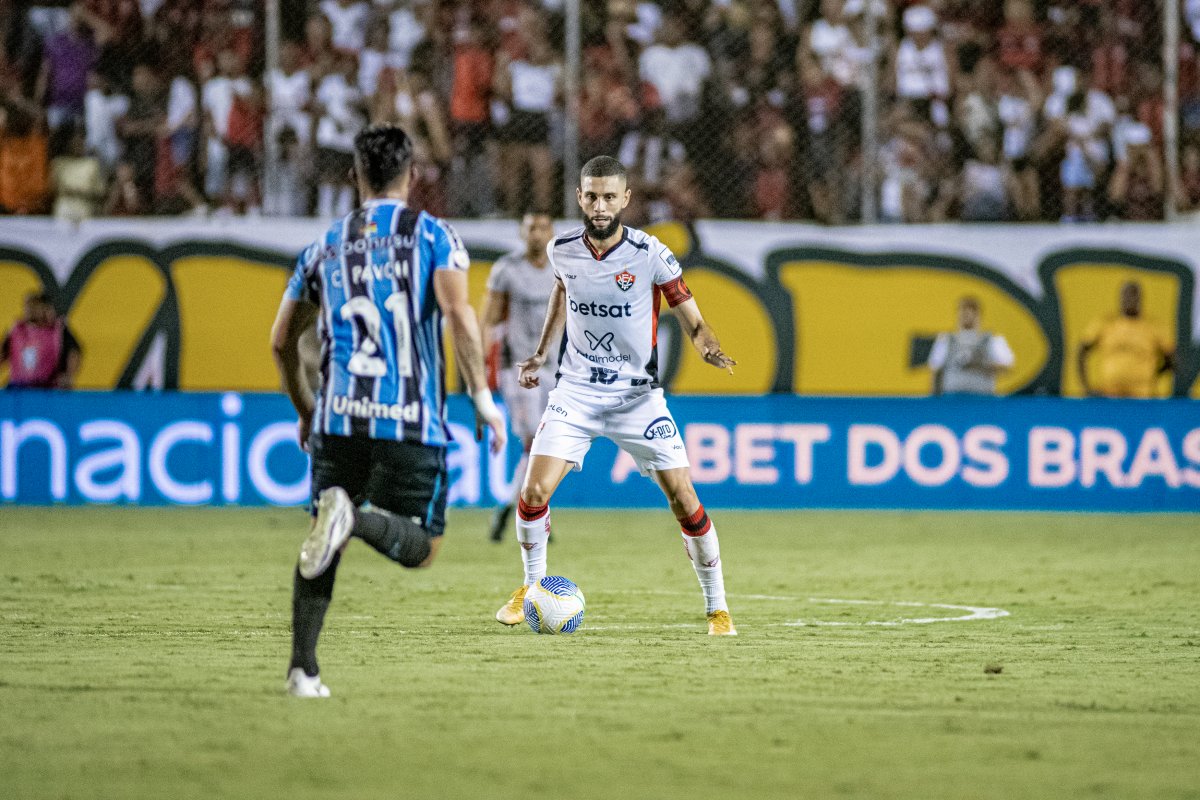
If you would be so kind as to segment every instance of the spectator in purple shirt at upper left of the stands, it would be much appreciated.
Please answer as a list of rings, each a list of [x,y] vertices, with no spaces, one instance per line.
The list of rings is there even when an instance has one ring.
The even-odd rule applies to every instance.
[[[71,5],[67,28],[46,42],[34,98],[46,109],[52,131],[83,121],[88,73],[95,68],[100,48],[110,36],[112,29],[77,1]]]

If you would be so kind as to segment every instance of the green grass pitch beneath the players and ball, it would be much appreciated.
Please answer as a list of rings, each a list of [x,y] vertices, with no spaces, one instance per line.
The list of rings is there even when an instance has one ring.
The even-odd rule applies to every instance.
[[[728,639],[665,511],[556,511],[584,626],[504,628],[485,519],[353,543],[296,700],[302,512],[0,509],[0,795],[1200,798],[1195,517],[715,512]]]

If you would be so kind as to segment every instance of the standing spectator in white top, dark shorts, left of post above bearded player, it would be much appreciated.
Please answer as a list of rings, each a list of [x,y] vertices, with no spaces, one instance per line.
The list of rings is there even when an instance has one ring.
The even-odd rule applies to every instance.
[[[499,190],[502,206],[514,217],[523,207],[552,207],[554,160],[550,130],[563,74],[546,30],[535,25],[522,32],[524,58],[508,60],[502,55],[493,86],[494,96],[511,109],[500,143]],[[529,201],[522,197],[527,186]]]

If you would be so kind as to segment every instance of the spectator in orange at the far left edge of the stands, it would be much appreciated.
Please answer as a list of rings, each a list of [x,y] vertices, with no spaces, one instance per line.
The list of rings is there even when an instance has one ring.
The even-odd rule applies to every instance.
[[[14,92],[0,101],[0,213],[44,213],[48,179],[44,115]]]

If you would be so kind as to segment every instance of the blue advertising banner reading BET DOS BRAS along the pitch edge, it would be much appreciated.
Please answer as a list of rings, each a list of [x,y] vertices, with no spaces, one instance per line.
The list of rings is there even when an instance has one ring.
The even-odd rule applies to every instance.
[[[1200,512],[1200,404],[1034,397],[674,397],[704,504],[762,509]],[[512,497],[516,446],[490,456],[450,401],[450,501]],[[0,392],[0,501],[295,505],[308,497],[277,395]],[[598,440],[557,506],[660,507]]]

